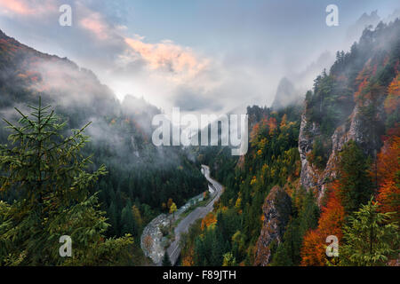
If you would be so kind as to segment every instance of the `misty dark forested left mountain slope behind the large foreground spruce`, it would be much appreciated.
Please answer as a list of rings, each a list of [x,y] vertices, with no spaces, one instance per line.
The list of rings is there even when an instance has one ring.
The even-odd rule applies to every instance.
[[[92,71],[0,31],[0,116],[16,122],[13,107],[28,113],[27,105],[36,106],[39,96],[67,121],[66,134],[92,122],[86,130],[92,140],[84,154],[93,154],[89,170],[101,164],[108,170],[92,192],[100,191],[111,224],[109,236],[132,233],[139,242],[143,226],[167,211],[169,199],[180,206],[207,189],[199,165],[180,147],[151,143],[151,119],[160,113],[155,106],[130,96],[120,103]],[[7,143],[7,136],[2,127],[0,143]],[[0,193],[0,198],[12,201],[18,196]],[[126,218],[134,221],[130,227],[124,224]]]

